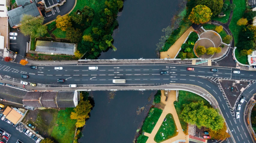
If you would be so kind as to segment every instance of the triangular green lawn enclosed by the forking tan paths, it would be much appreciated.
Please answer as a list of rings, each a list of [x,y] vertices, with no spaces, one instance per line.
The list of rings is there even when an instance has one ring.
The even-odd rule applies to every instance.
[[[174,122],[173,115],[169,113],[165,116],[165,118],[167,120],[165,122],[163,121],[161,127],[159,128],[159,130],[155,135],[155,138],[154,138],[155,142],[163,142],[167,139],[170,139],[178,135],[178,132],[176,131],[177,127]],[[162,136],[162,133],[164,134],[164,136]]]

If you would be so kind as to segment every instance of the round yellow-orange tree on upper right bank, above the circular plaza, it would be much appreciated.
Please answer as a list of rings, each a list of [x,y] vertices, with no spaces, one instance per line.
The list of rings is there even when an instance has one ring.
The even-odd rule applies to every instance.
[[[188,19],[195,24],[201,24],[208,22],[211,16],[212,12],[209,7],[200,4],[192,9]]]

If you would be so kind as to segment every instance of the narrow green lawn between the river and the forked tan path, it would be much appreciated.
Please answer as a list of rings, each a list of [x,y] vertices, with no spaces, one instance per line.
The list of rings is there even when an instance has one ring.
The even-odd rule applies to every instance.
[[[163,110],[158,108],[151,108],[149,110],[149,116],[146,117],[143,125],[142,125],[142,131],[146,133],[151,133],[152,130],[155,127],[156,122],[158,121],[159,117],[161,116],[161,113]]]

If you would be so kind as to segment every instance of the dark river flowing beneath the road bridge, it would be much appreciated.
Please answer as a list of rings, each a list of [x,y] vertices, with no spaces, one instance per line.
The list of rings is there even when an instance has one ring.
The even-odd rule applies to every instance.
[[[98,59],[155,59],[156,44],[178,8],[176,0],[127,0],[118,13],[119,27],[114,30],[114,46]],[[109,91],[91,92],[95,107],[83,128],[81,143],[132,143],[136,130],[145,119],[153,91],[117,91],[108,103]],[[143,93],[143,94],[142,94]],[[148,106],[146,106],[148,105]],[[147,107],[137,115],[137,107]]]

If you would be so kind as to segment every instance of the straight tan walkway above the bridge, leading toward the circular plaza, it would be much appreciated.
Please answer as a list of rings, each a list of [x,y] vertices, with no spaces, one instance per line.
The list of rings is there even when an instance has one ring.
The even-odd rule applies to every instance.
[[[180,49],[181,45],[184,43],[184,41],[188,37],[188,34],[191,31],[194,31],[194,28],[192,26],[190,26],[188,28],[188,30],[185,31],[182,34],[182,36],[180,36],[179,39],[166,52],[161,52],[160,53],[160,59],[169,58],[169,57],[171,59],[173,59],[176,56],[176,54],[179,52],[179,49]]]

